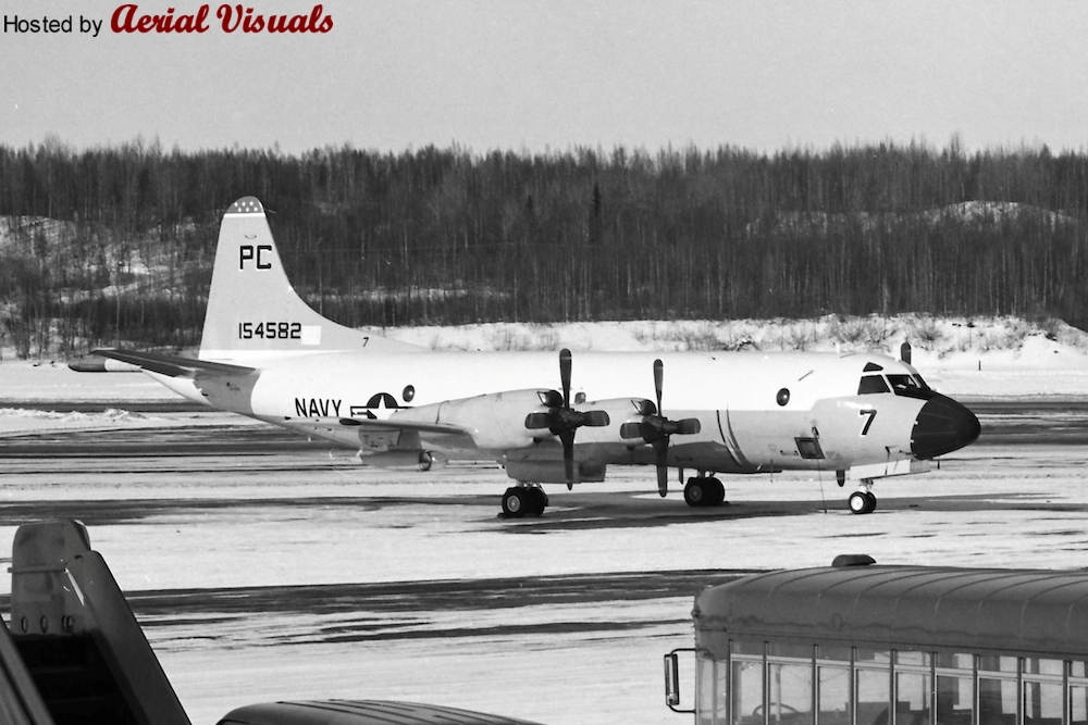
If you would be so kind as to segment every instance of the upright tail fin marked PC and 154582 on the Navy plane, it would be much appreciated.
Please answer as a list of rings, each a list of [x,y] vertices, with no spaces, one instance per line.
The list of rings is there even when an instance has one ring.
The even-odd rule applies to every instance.
[[[219,232],[200,359],[362,349],[422,348],[322,317],[290,286],[261,202],[245,197],[231,204]]]

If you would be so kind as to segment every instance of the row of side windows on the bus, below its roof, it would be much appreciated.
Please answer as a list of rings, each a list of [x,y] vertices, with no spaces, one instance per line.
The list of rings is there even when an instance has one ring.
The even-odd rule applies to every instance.
[[[698,725],[1088,725],[1085,661],[731,640]]]

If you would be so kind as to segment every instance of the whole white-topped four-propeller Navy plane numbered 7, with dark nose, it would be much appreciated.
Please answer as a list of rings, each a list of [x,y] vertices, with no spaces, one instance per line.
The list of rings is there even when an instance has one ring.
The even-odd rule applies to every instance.
[[[223,217],[196,359],[96,352],[363,463],[497,461],[516,482],[510,516],[544,511],[541,484],[599,482],[609,465],[654,466],[662,496],[670,467],[694,472],[693,507],[722,501],[716,473],[833,471],[868,513],[875,479],[927,471],[979,434],[969,410],[880,354],[437,352],[350,329],[294,291],[252,197]]]

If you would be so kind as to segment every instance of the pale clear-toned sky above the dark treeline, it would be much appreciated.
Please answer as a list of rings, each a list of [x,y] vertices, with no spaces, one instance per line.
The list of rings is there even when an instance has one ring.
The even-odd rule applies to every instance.
[[[121,4],[0,2],[0,143],[1088,148],[1080,1],[326,0],[331,32],[275,36],[224,33],[217,3],[202,35],[114,34]],[[16,16],[73,33],[15,33]]]

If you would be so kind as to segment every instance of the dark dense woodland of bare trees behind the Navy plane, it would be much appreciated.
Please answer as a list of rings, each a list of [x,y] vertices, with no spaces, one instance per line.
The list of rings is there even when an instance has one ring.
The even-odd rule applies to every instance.
[[[1088,324],[1088,155],[0,147],[0,334],[21,354],[199,339],[221,215],[269,210],[347,325],[928,312]],[[0,340],[0,342],[4,342]]]

